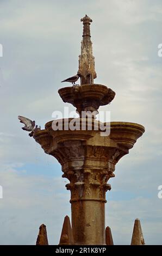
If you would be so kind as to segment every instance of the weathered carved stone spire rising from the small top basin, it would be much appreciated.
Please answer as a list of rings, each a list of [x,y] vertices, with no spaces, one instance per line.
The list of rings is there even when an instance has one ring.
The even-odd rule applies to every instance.
[[[92,56],[92,42],[90,34],[90,17],[85,15],[80,21],[83,22],[83,40],[81,42],[81,54],[79,55],[80,85],[93,84],[97,77],[95,72],[95,57]]]

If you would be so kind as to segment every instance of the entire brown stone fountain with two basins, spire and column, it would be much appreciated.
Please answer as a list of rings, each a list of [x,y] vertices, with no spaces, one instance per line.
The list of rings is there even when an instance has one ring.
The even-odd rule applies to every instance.
[[[107,182],[115,176],[116,163],[129,153],[145,129],[140,124],[116,121],[110,122],[110,132],[107,136],[103,135],[107,124],[97,121],[96,114],[99,106],[107,105],[114,99],[115,92],[102,84],[94,84],[96,72],[90,36],[92,20],[86,15],[81,21],[80,86],[58,91],[64,102],[76,107],[79,117],[49,121],[45,129],[36,131],[33,137],[46,154],[58,160],[63,178],[70,181],[66,188],[71,192],[70,237],[73,237],[70,239],[67,231],[60,244],[105,245],[105,193],[111,189]],[[54,129],[57,122],[61,123],[61,129]],[[72,124],[76,129],[70,129]],[[67,226],[70,227],[69,223]]]

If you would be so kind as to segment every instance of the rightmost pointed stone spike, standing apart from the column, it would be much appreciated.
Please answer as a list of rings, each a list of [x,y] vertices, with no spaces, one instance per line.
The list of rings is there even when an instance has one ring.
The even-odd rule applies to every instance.
[[[136,218],[134,222],[131,245],[145,245],[145,240],[141,229],[141,223],[138,218]]]

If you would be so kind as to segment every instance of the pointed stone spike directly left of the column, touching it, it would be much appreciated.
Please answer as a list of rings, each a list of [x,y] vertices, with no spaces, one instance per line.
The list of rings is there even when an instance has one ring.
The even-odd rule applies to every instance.
[[[70,224],[70,218],[66,216],[64,218],[63,229],[60,236],[59,245],[73,245],[74,239],[72,234],[72,228]]]

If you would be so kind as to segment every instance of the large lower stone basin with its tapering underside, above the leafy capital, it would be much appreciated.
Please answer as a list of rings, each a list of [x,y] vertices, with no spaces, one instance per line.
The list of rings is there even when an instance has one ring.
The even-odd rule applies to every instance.
[[[114,176],[115,164],[129,153],[136,140],[145,131],[144,126],[128,122],[111,122],[109,136],[101,136],[105,124],[92,120],[92,129],[88,130],[89,120],[76,118],[80,124],[84,120],[85,130],[68,130],[73,119],[62,119],[62,130],[52,129],[53,121],[45,125],[45,130],[34,133],[46,154],[54,156],[62,166],[63,172],[70,169],[97,168],[108,170]],[[66,130],[65,130],[66,127]],[[81,129],[81,126],[80,126]]]

